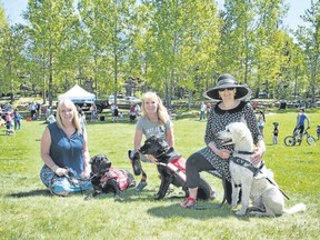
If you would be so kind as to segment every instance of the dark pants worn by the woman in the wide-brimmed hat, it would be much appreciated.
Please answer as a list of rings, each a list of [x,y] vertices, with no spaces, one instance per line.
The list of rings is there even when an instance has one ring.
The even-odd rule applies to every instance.
[[[212,164],[199,152],[191,154],[186,162],[187,187],[197,188],[200,181],[201,171],[214,170]],[[231,182],[224,179],[224,191],[227,202],[231,204],[232,186]]]

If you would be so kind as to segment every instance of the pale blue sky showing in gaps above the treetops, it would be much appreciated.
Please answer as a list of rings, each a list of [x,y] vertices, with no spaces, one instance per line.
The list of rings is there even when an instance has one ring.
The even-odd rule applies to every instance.
[[[223,6],[223,0],[216,1],[220,8]],[[284,26],[297,30],[299,24],[304,24],[300,16],[304,14],[304,11],[310,8],[311,0],[286,0],[286,2],[290,6],[290,9],[284,19]],[[4,7],[10,23],[23,22],[21,13],[26,10],[28,0],[0,0],[0,3]]]

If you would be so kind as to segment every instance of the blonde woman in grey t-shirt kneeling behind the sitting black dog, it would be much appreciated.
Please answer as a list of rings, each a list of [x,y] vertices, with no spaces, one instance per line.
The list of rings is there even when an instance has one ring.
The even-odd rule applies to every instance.
[[[170,120],[167,108],[163,106],[161,99],[154,92],[146,92],[142,96],[141,117],[138,119],[136,126],[136,133],[133,140],[134,150],[138,151],[141,147],[142,137],[146,139],[157,136],[164,139],[169,147],[174,148],[173,123]],[[143,161],[141,156],[141,160]],[[158,163],[152,156],[146,156],[144,161]],[[142,179],[137,186],[137,191],[141,191],[147,186],[147,174],[142,170]]]

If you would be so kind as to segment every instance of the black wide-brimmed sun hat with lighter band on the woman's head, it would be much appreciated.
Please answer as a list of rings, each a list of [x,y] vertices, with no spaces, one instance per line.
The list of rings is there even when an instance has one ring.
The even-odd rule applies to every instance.
[[[252,91],[247,86],[239,84],[236,78],[229,73],[221,74],[218,78],[218,84],[203,93],[204,98],[221,100],[219,90],[226,88],[236,88],[234,99],[243,100],[251,96]]]

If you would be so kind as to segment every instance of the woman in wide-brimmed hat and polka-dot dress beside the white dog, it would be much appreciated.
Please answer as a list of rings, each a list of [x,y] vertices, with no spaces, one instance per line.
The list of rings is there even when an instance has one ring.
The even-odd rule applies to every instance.
[[[257,146],[256,152],[251,156],[251,162],[258,164],[261,161],[266,144],[259,131],[252,106],[244,101],[250,94],[251,90],[247,86],[239,84],[236,78],[229,73],[220,76],[217,86],[203,93],[206,98],[219,102],[211,107],[207,120],[206,147],[187,159],[186,176],[189,197],[181,203],[181,207],[193,208],[197,204],[201,171],[209,171],[218,178],[226,179],[226,197],[228,203],[231,203],[232,187],[229,161],[232,158],[233,146],[224,146],[218,138],[218,132],[224,130],[227,124],[237,121],[247,123]]]

